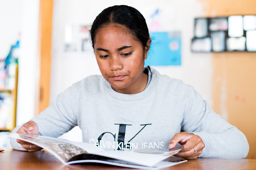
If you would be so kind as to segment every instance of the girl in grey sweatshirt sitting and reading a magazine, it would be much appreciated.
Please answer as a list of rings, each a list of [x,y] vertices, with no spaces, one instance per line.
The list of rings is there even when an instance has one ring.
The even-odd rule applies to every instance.
[[[78,125],[83,142],[105,150],[168,151],[179,143],[184,148],[176,156],[186,159],[247,156],[245,135],[211,110],[193,87],[144,67],[151,39],[137,9],[104,9],[90,33],[102,76],[73,84],[13,132],[58,137]],[[20,140],[11,144],[17,150],[42,149]]]

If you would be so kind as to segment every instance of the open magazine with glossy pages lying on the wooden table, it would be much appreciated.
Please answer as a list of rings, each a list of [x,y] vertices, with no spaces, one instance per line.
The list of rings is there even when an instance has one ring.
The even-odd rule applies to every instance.
[[[65,165],[81,162],[97,162],[122,167],[158,170],[187,161],[183,158],[173,156],[183,146],[175,147],[168,152],[150,149],[105,151],[100,147],[88,143],[74,142],[49,136],[23,133],[0,133],[0,135],[38,145],[52,153]]]

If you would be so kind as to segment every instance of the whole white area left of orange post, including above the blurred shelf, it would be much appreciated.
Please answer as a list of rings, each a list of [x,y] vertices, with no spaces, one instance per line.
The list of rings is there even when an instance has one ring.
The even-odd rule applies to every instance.
[[[0,0],[0,59],[5,59],[21,34],[17,125],[35,115],[38,19],[39,0]]]

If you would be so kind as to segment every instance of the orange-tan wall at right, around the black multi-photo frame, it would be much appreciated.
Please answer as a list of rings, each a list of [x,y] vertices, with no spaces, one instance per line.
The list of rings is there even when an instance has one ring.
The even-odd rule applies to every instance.
[[[207,17],[256,15],[256,0],[200,1]],[[256,53],[214,53],[213,68],[213,109],[218,114],[226,110],[221,116],[248,139],[247,159],[256,159]]]

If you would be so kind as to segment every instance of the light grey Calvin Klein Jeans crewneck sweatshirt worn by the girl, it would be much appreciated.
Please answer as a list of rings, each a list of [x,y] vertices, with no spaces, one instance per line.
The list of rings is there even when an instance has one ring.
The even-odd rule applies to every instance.
[[[168,151],[170,139],[181,130],[204,142],[203,158],[245,158],[245,135],[208,107],[190,85],[160,75],[147,66],[148,85],[137,94],[121,94],[103,76],[86,77],[59,94],[31,119],[39,134],[58,137],[79,126],[83,142],[104,150],[148,148]],[[16,132],[19,127],[13,132]],[[14,149],[24,150],[12,139]]]

